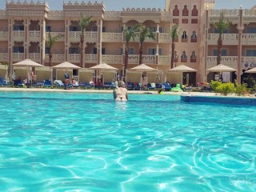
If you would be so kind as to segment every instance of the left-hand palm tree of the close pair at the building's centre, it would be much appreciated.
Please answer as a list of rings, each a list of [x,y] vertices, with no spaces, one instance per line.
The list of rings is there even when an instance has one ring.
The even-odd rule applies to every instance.
[[[125,50],[125,69],[124,69],[124,76],[126,77],[126,69],[128,66],[128,54],[129,54],[129,42],[130,39],[135,37],[136,32],[138,32],[140,28],[140,25],[136,25],[136,26],[131,26],[131,27],[126,27],[123,32],[125,35],[125,40],[126,40],[126,50]]]

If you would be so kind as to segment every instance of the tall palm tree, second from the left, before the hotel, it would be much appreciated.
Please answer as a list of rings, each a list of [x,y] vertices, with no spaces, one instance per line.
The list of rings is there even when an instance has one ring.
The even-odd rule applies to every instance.
[[[81,34],[80,34],[80,66],[83,67],[83,54],[84,54],[84,50],[83,50],[83,44],[85,42],[85,30],[86,27],[89,26],[91,20],[93,17],[81,17],[80,21],[79,21],[79,25],[81,28]]]

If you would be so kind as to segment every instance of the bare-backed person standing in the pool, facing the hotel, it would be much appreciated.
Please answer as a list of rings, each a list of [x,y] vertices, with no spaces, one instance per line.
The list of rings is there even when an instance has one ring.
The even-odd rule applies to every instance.
[[[115,82],[115,89],[113,90],[113,96],[115,101],[128,101],[128,91],[126,89],[126,83],[123,81]]]

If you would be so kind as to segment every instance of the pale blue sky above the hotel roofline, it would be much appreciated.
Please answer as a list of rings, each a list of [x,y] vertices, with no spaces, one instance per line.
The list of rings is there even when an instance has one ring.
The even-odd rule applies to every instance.
[[[8,0],[11,1],[11,0]],[[17,2],[18,0],[14,0]],[[20,0],[24,2],[25,0]],[[30,2],[31,0],[26,0]],[[50,10],[62,10],[63,0],[39,0],[40,2],[48,2],[50,6]],[[75,0],[70,0],[71,2],[75,2]],[[82,0],[77,0],[78,2],[82,2]],[[190,0],[188,0],[190,1]],[[34,2],[38,2],[38,0],[34,0]],[[69,2],[69,0],[64,0],[64,2]],[[89,2],[89,0],[84,0],[84,2]],[[90,2],[95,2],[95,0],[90,0]],[[98,0],[98,2],[102,2],[102,0]],[[165,8],[165,0],[104,0],[103,1],[106,10],[122,10],[122,8],[134,7],[134,8],[161,8],[164,10]],[[243,9],[250,9],[252,6],[256,5],[256,1],[254,0],[215,0],[215,10],[221,9],[239,9],[242,5]],[[0,9],[6,9],[6,0],[0,0]]]

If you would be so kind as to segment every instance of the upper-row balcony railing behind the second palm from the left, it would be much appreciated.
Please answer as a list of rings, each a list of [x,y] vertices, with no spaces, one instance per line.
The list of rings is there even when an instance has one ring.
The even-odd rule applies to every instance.
[[[80,31],[70,31],[70,42],[80,42]],[[85,42],[97,42],[98,32],[85,32]]]

